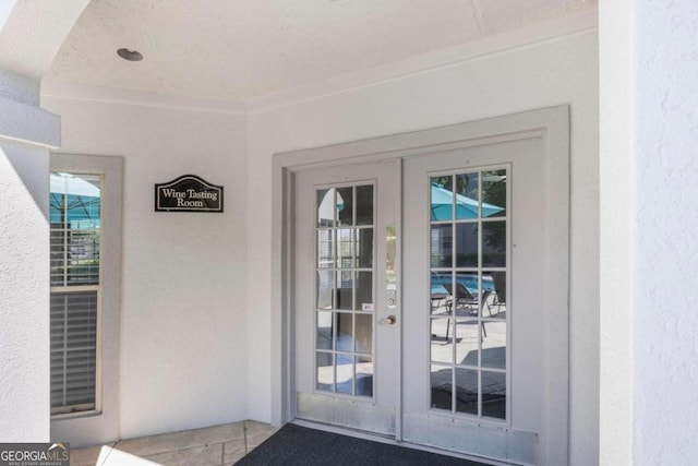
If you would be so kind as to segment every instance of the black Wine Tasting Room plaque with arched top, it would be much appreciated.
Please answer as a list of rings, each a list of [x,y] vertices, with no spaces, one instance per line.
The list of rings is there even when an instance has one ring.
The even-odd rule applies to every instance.
[[[155,184],[156,212],[222,212],[222,187],[195,175]]]

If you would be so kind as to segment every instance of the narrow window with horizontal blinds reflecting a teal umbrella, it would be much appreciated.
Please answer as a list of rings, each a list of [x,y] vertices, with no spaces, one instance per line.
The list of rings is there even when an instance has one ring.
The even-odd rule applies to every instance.
[[[51,414],[96,409],[101,176],[51,172]]]

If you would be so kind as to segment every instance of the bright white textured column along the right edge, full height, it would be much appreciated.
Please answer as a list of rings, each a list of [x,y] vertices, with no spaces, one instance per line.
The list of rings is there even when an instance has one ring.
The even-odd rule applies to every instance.
[[[600,4],[603,465],[698,458],[698,3]]]

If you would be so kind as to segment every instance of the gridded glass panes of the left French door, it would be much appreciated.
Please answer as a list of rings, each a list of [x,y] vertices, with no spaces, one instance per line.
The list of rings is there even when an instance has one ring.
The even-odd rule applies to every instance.
[[[315,391],[373,397],[375,188],[315,193]]]

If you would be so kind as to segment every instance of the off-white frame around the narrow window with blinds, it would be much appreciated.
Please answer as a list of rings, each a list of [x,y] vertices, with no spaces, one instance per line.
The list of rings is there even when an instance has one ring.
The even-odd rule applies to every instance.
[[[51,439],[89,444],[119,437],[119,328],[123,158],[51,154],[50,171],[100,175],[100,271],[95,408],[51,416]]]

